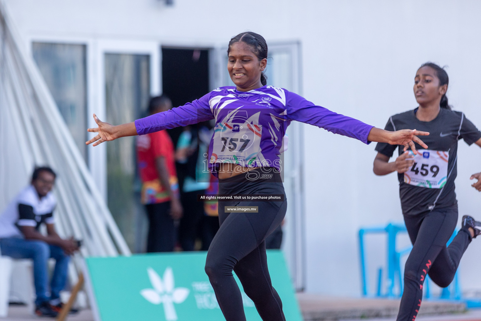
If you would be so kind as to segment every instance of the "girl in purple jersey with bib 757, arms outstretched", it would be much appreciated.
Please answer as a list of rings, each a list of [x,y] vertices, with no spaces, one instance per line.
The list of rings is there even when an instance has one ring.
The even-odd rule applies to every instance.
[[[119,137],[186,126],[215,119],[209,146],[209,169],[219,178],[219,194],[283,194],[281,202],[219,202],[220,228],[207,253],[205,271],[227,321],[245,321],[239,277],[264,321],[285,321],[282,302],[267,270],[265,239],[286,213],[280,177],[283,139],[292,120],[369,143],[382,141],[415,149],[427,146],[411,129],[387,131],[317,106],[288,90],[266,86],[266,40],[253,32],[230,39],[228,72],[235,87],[221,87],[199,100],[128,124],[113,126],[94,115],[96,146]],[[284,143],[287,143],[284,142]],[[226,212],[230,206],[257,206],[258,212]]]

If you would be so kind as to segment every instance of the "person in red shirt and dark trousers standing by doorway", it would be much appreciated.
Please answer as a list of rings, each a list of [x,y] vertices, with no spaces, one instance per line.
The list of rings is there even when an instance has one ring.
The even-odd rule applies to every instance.
[[[170,99],[162,95],[151,99],[148,113],[153,115],[171,108]],[[136,145],[141,201],[149,218],[147,252],[171,252],[176,241],[175,221],[182,217],[174,145],[166,130],[137,136]]]

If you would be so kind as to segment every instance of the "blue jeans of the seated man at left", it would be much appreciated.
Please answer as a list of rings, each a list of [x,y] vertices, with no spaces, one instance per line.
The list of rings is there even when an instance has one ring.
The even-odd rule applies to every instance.
[[[31,258],[33,260],[33,276],[35,283],[35,304],[55,300],[60,297],[60,291],[65,287],[67,281],[68,262],[67,256],[62,248],[47,244],[43,241],[25,240],[22,238],[0,239],[1,254],[12,258]],[[48,260],[55,259],[55,269],[49,287]]]

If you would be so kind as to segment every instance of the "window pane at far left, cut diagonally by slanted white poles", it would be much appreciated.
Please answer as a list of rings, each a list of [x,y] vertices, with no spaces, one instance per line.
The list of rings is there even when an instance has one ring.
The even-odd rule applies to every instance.
[[[87,160],[86,46],[34,42],[32,53],[80,154]]]

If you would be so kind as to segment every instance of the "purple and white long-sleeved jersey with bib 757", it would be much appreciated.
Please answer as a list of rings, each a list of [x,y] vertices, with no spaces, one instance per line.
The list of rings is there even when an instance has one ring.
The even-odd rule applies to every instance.
[[[272,86],[250,91],[220,87],[171,110],[137,119],[139,135],[215,119],[208,167],[218,164],[280,169],[282,143],[292,120],[315,125],[364,143],[373,126],[317,106],[296,93]]]

